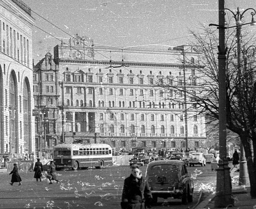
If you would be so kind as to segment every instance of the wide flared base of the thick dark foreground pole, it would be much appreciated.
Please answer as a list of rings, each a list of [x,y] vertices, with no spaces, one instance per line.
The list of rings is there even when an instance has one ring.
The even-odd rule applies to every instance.
[[[234,199],[232,197],[232,185],[230,177],[230,168],[228,160],[221,160],[218,163],[216,181],[216,196],[214,198],[214,206],[217,208],[233,207]]]

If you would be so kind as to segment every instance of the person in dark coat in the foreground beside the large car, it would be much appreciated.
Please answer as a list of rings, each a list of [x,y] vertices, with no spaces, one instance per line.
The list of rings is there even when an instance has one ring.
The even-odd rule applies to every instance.
[[[124,179],[122,209],[145,209],[152,203],[148,181],[142,178],[139,166],[131,166],[132,174]]]

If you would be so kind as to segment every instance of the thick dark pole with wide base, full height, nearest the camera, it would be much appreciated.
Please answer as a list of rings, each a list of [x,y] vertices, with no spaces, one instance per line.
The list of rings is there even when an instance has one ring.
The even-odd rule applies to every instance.
[[[217,171],[215,207],[229,207],[234,205],[230,168],[228,167],[227,134],[226,134],[226,44],[225,44],[225,1],[219,0],[219,144],[220,160]]]

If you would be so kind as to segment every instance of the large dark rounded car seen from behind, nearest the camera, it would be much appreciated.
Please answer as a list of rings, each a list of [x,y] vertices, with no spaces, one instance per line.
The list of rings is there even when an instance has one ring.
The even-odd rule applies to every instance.
[[[158,197],[181,199],[182,204],[193,201],[194,183],[181,160],[152,161],[146,174],[155,203]]]

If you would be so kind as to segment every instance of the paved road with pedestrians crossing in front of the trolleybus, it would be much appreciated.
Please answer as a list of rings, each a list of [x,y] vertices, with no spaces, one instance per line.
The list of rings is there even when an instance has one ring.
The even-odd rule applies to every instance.
[[[142,167],[145,174],[146,166]],[[195,183],[194,202],[181,205],[180,200],[158,198],[158,203],[152,209],[172,209],[192,207],[198,198],[201,183],[213,182],[216,185],[216,172],[210,165],[206,167],[188,167],[193,174]],[[202,174],[201,174],[202,172]],[[78,171],[58,172],[60,183],[49,185],[48,179],[36,182],[34,172],[20,172],[22,185],[9,184],[11,175],[0,173],[0,208],[52,208],[52,209],[116,209],[120,208],[120,197],[124,178],[130,175],[129,166],[113,166],[102,170],[88,169]]]

